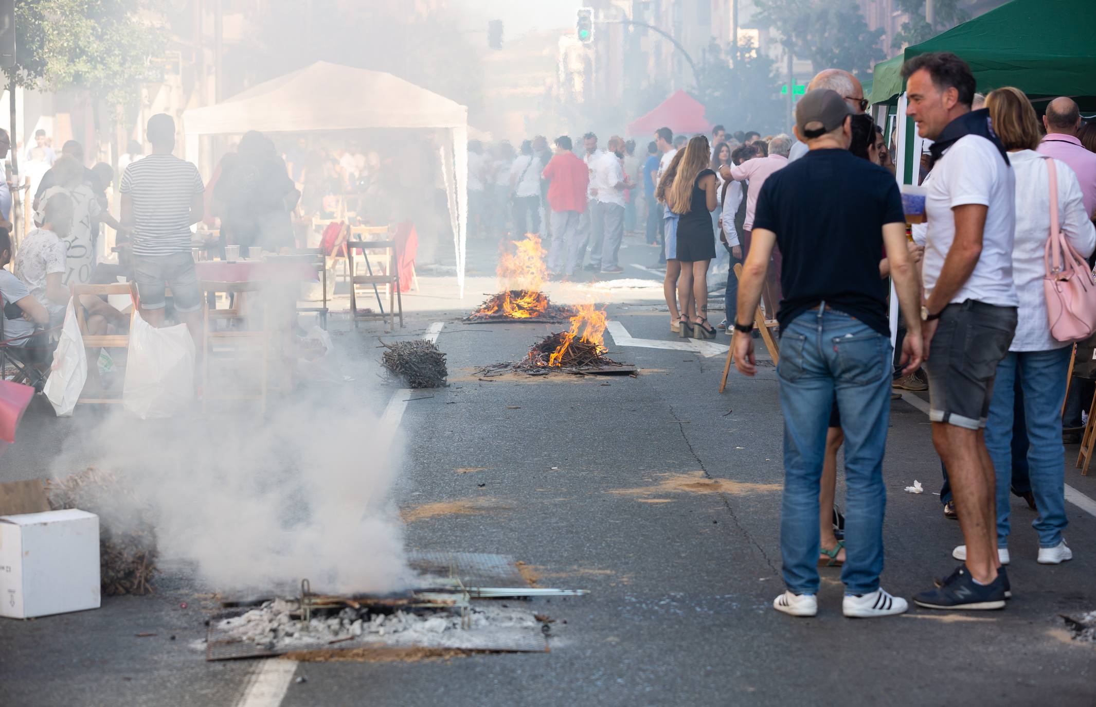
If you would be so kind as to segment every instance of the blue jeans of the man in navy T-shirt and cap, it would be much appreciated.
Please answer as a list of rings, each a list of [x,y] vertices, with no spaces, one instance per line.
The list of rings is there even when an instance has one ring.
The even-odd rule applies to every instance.
[[[780,332],[784,410],[784,581],[797,594],[819,589],[819,484],[836,396],[845,433],[847,592],[879,589],[883,569],[883,449],[890,421],[890,337],[832,309],[807,311]]]

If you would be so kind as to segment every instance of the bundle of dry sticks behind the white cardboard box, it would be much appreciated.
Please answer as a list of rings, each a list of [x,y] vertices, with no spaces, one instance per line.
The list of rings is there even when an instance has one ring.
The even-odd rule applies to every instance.
[[[55,511],[80,509],[99,516],[100,589],[107,596],[151,594],[156,561],[156,528],[151,510],[110,471],[88,467],[48,481]]]

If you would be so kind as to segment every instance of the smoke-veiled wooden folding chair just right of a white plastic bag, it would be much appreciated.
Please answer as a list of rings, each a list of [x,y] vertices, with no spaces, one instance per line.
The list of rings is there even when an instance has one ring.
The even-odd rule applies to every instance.
[[[266,397],[270,387],[270,331],[267,330],[267,312],[266,304],[262,301],[261,297],[255,297],[253,300],[258,300],[259,306],[256,311],[250,312],[247,321],[243,319],[242,307],[246,293],[259,292],[262,288],[262,283],[244,282],[244,283],[216,283],[216,282],[202,282],[202,328],[203,328],[203,349],[202,349],[202,410],[203,412],[208,410],[209,402],[213,400],[259,400],[260,408],[266,410]],[[214,297],[208,297],[209,294]],[[217,293],[227,293],[235,295],[232,298],[235,301],[231,307],[217,309],[216,305],[214,307],[209,306],[210,299],[216,303]],[[217,328],[216,323],[218,321],[230,322],[232,324],[249,324],[249,328],[230,328],[220,330]],[[209,366],[210,358],[214,350],[217,349],[217,353],[224,353],[226,351],[236,354],[244,349],[260,350],[260,358],[262,361],[259,368],[259,385],[256,390],[246,390],[241,388],[229,388],[225,386],[213,386],[210,385],[209,378]]]

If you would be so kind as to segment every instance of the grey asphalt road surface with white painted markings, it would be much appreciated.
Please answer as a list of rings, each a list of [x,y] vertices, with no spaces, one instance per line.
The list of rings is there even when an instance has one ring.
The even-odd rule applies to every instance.
[[[625,260],[647,264],[652,252],[633,246]],[[639,269],[625,275],[654,277]],[[629,289],[598,301],[610,299],[612,319],[633,338],[675,341],[659,297]],[[528,603],[556,619],[548,653],[299,663],[294,675],[307,682],[253,704],[1096,702],[1096,648],[1072,642],[1058,618],[1096,608],[1096,517],[1068,506],[1075,559],[1043,567],[1035,562],[1032,514],[1014,503],[1015,598],[1002,612],[914,608],[845,619],[838,570],[830,569],[822,570],[817,618],[778,614],[770,607],[783,590],[775,369],[763,366],[752,380],[732,374],[718,395],[721,356],[621,347],[609,338],[609,355],[638,366],[637,377],[480,380],[478,366],[520,358],[559,327],[459,323],[475,301],[470,295],[415,311],[402,332],[421,335],[445,322],[438,345],[450,385],[407,406],[393,500],[402,509],[447,502],[459,511],[409,523],[406,544],[511,555],[532,566],[540,585],[590,595]],[[351,333],[335,319],[331,328],[343,370],[356,378],[347,385],[361,390],[364,409],[379,410],[397,387],[374,376],[379,330]],[[0,479],[94,463],[102,443],[87,424],[94,413],[59,420],[42,402],[0,459]],[[133,434],[141,433],[134,422]],[[950,550],[961,540],[932,494],[939,463],[927,419],[905,401],[892,404],[883,472],[883,586],[909,596],[950,571]],[[914,479],[924,494],[903,492]],[[1066,482],[1096,498],[1096,476],[1068,464]],[[240,704],[266,661],[205,661],[199,641],[212,588],[186,565],[169,565],[158,589],[104,598],[99,611],[0,622],[0,705]]]

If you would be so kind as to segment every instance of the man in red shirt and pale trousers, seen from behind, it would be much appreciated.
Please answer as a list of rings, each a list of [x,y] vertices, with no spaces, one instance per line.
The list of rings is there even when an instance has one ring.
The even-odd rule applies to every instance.
[[[590,171],[586,163],[571,151],[571,138],[556,138],[556,156],[540,176],[549,181],[548,206],[551,208],[551,247],[548,250],[550,275],[574,275],[582,264],[585,239],[579,238],[579,221],[586,210],[586,186]],[[560,261],[567,253],[567,266]]]

